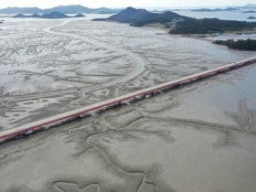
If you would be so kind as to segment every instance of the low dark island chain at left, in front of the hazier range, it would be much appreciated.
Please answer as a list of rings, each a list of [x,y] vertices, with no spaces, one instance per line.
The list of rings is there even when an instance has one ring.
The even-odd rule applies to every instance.
[[[76,16],[67,16],[65,14],[55,11],[50,14],[43,14],[43,15],[33,14],[30,16],[27,16],[27,15],[23,15],[23,14],[18,14],[13,17],[14,18],[69,18],[69,17],[84,17],[84,15],[78,14]]]

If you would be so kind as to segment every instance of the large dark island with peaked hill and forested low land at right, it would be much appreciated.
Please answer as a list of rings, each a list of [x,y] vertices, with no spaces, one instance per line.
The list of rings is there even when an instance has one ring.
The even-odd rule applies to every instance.
[[[108,18],[96,18],[94,21],[115,21],[130,23],[133,27],[143,27],[149,24],[161,24],[169,34],[212,34],[227,31],[252,31],[256,22],[229,21],[217,18],[196,19],[180,16],[174,12],[151,13],[145,9],[128,7],[120,13]]]

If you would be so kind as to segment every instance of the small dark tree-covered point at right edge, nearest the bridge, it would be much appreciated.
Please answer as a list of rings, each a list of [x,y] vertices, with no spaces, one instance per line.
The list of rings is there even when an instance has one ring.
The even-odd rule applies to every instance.
[[[256,40],[217,40],[215,44],[228,46],[228,48],[239,49],[239,50],[256,50]]]

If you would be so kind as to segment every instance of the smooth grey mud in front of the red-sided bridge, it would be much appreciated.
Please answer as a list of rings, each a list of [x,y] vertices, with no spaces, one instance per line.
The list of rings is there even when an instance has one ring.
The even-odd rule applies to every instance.
[[[255,192],[256,64],[0,145],[3,192]]]

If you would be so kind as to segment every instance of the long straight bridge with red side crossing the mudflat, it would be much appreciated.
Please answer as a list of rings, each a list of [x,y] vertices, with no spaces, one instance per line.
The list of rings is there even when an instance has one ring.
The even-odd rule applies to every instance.
[[[111,100],[107,101],[101,101],[96,104],[92,104],[90,106],[86,106],[83,108],[80,108],[78,110],[73,110],[70,112],[64,112],[43,120],[39,120],[34,123],[27,123],[25,125],[18,126],[13,129],[9,129],[3,132],[0,132],[0,143],[9,141],[11,139],[16,139],[31,133],[35,133],[37,131],[47,130],[53,126],[58,126],[63,123],[68,123],[69,121],[74,121],[78,118],[91,116],[92,113],[97,112],[103,112],[106,110],[111,109],[114,106],[118,106],[120,104],[126,103],[127,101],[136,101],[141,100],[144,97],[147,97],[149,95],[154,95],[156,93],[159,93],[161,91],[167,91],[171,90],[173,88],[176,88],[178,86],[191,83],[197,80],[202,80],[205,78],[208,78],[209,76],[213,76],[219,73],[222,73],[224,71],[228,71],[231,69],[240,68],[242,66],[251,64],[253,62],[256,62],[256,57],[251,59],[245,59],[238,62],[234,62],[222,67],[219,67],[217,69],[209,69],[203,72],[199,72],[194,75],[187,76],[185,78],[181,78],[178,80],[172,80],[168,81],[159,85],[156,85],[154,87],[146,88],[141,91],[134,91],[129,94],[125,94],[120,97],[113,98]]]

